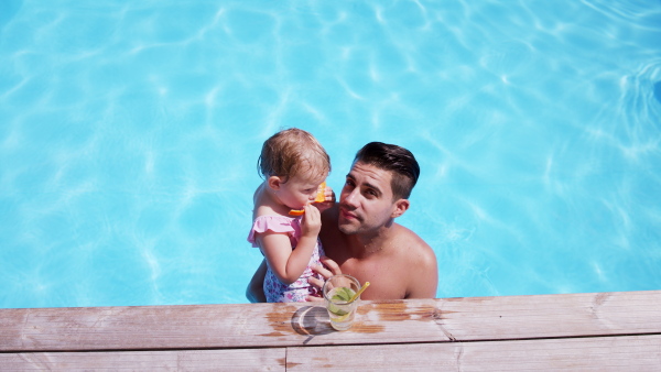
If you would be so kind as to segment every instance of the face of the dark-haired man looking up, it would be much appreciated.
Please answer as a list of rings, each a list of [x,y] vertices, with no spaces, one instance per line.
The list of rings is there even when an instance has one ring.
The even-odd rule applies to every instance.
[[[339,195],[339,230],[346,234],[377,231],[392,220],[392,174],[357,162]]]

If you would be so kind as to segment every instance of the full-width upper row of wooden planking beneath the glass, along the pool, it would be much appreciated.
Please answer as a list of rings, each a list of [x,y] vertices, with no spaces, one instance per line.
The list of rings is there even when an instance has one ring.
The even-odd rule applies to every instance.
[[[661,332],[661,291],[364,302],[349,331],[318,304],[0,309],[0,351],[167,350]]]

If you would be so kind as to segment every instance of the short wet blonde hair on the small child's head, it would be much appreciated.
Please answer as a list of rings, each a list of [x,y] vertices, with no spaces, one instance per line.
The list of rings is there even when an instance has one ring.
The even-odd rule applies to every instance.
[[[330,156],[312,134],[291,128],[264,141],[257,168],[264,178],[278,176],[286,182],[301,172],[313,171],[326,175],[330,172]]]

